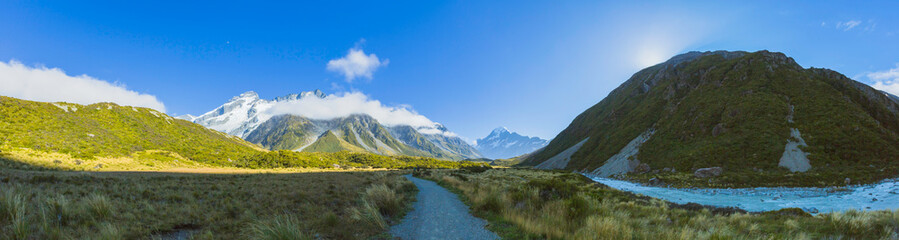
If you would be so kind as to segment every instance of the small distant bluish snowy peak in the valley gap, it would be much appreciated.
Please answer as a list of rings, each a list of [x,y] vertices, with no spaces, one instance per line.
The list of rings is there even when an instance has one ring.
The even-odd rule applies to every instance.
[[[538,137],[522,136],[505,127],[493,129],[490,135],[477,140],[477,149],[484,157],[507,159],[531,153],[546,146],[548,141]]]

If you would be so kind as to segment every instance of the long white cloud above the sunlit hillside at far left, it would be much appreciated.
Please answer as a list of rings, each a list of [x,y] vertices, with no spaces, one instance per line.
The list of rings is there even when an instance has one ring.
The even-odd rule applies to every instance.
[[[69,76],[62,69],[0,62],[0,95],[41,102],[92,104],[114,102],[165,112],[155,96],[128,90],[87,75]]]

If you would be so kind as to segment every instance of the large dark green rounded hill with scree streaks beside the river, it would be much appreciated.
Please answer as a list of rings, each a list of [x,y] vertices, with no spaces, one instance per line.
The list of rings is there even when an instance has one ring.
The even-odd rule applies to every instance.
[[[634,74],[523,164],[589,137],[564,168],[592,171],[654,129],[633,156],[651,169],[722,167],[724,175],[710,180],[722,184],[871,182],[899,174],[897,113],[887,95],[782,53],[693,52]],[[796,141],[791,129],[808,144],[800,147],[808,172],[778,166],[785,144]]]

